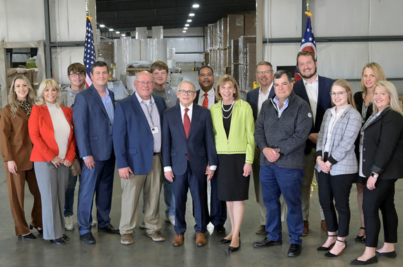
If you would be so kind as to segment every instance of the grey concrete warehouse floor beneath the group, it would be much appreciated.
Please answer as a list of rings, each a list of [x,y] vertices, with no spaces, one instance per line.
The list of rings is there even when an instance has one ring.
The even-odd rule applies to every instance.
[[[186,78],[194,79],[194,72],[188,73]],[[110,217],[112,224],[119,225],[121,215],[121,184],[117,170],[114,176],[114,194],[112,199],[112,211]],[[287,257],[289,248],[289,237],[287,235],[287,224],[283,226],[283,245],[271,248],[256,249],[252,247],[254,241],[260,241],[264,236],[256,235],[254,229],[259,226],[259,212],[254,195],[253,179],[249,190],[249,200],[245,201],[245,217],[241,228],[241,248],[238,252],[227,253],[227,245],[219,245],[218,241],[225,235],[216,235],[209,225],[207,234],[207,245],[198,248],[194,245],[194,219],[192,217],[192,199],[190,195],[187,201],[187,224],[188,230],[185,233],[185,244],[174,248],[171,243],[174,238],[174,229],[171,224],[163,223],[162,233],[166,241],[156,243],[145,235],[145,231],[136,227],[134,244],[124,246],[120,243],[120,236],[98,233],[93,228],[93,235],[97,241],[94,245],[87,245],[80,241],[76,216],[74,215],[74,231],[66,231],[71,238],[65,246],[50,244],[41,238],[41,235],[33,230],[37,236],[34,240],[25,240],[14,236],[14,221],[10,212],[8,201],[8,190],[3,164],[0,164],[0,266],[348,266],[349,262],[360,256],[364,251],[364,244],[354,241],[355,235],[360,228],[358,208],[356,204],[355,186],[351,190],[351,224],[350,235],[347,237],[348,247],[343,255],[333,259],[327,259],[324,253],[318,252],[316,248],[321,246],[327,236],[320,230],[320,215],[318,204],[318,190],[311,192],[311,214],[310,232],[307,237],[302,237],[302,255],[297,258]],[[403,195],[402,181],[397,181],[395,204],[397,214],[402,215]],[[78,184],[76,187],[76,197]],[[142,205],[142,199],[141,205]],[[74,211],[76,211],[76,199]],[[25,215],[30,218],[32,208],[32,196],[25,187]],[[161,194],[160,215],[164,216],[165,203]],[[138,223],[143,219],[139,212]],[[225,224],[227,233],[230,230],[229,219]],[[403,236],[402,228],[399,228],[399,236]],[[380,235],[382,246],[383,233]],[[403,248],[396,245],[397,259],[380,259],[376,266],[402,266]],[[375,265],[374,265],[375,266]]]

